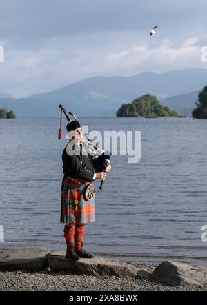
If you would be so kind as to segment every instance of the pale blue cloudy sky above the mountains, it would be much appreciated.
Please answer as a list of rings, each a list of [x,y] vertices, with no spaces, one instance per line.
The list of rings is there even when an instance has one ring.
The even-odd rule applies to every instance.
[[[206,12],[206,0],[1,0],[0,92],[26,97],[96,76],[207,68]]]

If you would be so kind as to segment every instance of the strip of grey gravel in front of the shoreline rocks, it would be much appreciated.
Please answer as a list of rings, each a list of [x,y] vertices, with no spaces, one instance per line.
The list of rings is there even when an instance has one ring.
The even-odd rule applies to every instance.
[[[144,264],[135,266],[150,273],[156,267]],[[207,288],[170,287],[135,277],[94,277],[44,270],[36,273],[1,271],[0,291],[207,291]]]

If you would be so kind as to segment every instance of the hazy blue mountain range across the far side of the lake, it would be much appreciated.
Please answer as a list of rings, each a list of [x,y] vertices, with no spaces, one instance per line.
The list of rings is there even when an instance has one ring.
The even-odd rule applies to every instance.
[[[181,114],[193,110],[197,92],[207,83],[207,69],[143,72],[132,77],[92,77],[63,88],[22,99],[3,99],[0,108],[17,117],[57,117],[58,104],[77,116],[115,115],[122,103],[144,95],[156,95],[161,104]]]

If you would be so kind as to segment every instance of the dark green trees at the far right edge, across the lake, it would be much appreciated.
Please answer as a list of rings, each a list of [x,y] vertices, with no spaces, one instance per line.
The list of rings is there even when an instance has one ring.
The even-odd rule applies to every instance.
[[[197,108],[194,108],[192,115],[196,119],[207,119],[207,86],[199,92],[198,99],[195,103]]]

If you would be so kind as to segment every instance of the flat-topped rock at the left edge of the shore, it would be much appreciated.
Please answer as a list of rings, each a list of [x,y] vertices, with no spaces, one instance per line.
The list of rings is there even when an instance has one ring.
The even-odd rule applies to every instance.
[[[48,265],[48,253],[43,249],[0,250],[0,270],[43,270]]]

